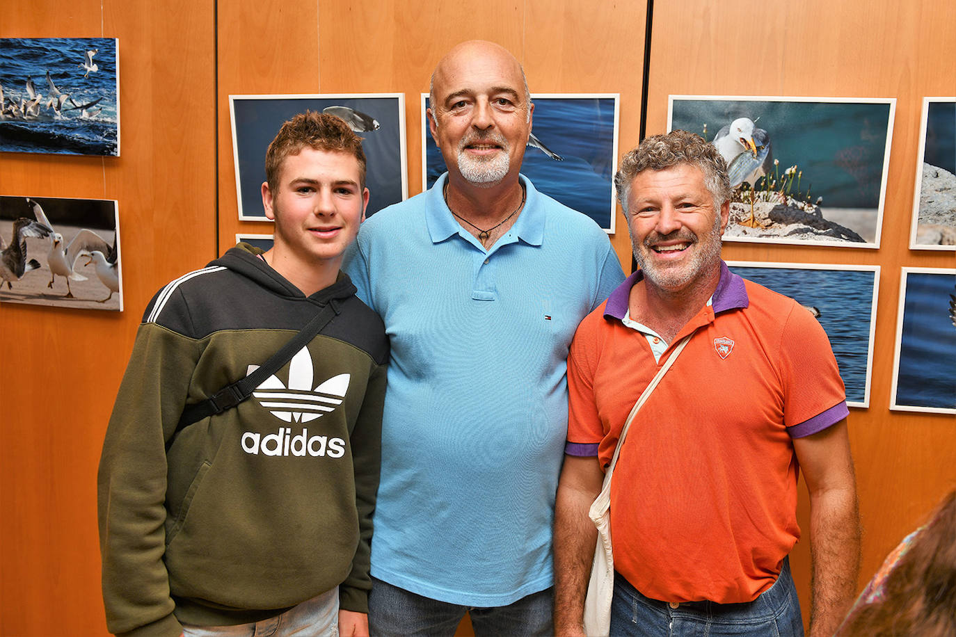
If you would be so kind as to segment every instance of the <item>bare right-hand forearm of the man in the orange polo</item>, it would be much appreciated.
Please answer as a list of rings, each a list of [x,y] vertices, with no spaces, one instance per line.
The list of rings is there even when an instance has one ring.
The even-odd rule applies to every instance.
[[[812,495],[810,548],[813,559],[811,637],[830,637],[857,593],[859,511],[851,485]]]

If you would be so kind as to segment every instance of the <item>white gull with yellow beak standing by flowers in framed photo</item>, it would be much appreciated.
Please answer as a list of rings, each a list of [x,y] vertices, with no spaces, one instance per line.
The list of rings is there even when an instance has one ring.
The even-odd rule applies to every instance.
[[[738,117],[717,131],[713,145],[727,161],[730,188],[750,185],[750,219],[741,225],[763,227],[754,216],[753,202],[757,180],[770,175],[773,165],[770,134],[757,128],[750,117]]]

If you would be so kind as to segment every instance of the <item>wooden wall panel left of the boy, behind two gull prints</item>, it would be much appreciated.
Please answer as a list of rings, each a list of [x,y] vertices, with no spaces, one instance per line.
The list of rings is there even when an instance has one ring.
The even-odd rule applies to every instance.
[[[0,305],[0,634],[105,634],[96,475],[141,313],[215,255],[213,4],[48,0],[0,37],[120,38],[120,158],[0,154],[0,194],[116,199],[124,311]],[[42,261],[42,258],[41,258]]]

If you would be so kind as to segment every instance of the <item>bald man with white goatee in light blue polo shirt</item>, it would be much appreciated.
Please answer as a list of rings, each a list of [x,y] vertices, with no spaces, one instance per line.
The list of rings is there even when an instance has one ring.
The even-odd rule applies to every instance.
[[[362,225],[345,270],[392,359],[369,622],[376,635],[552,630],[568,349],[623,281],[607,235],[519,174],[534,105],[496,44],[465,42],[427,110],[448,172]]]

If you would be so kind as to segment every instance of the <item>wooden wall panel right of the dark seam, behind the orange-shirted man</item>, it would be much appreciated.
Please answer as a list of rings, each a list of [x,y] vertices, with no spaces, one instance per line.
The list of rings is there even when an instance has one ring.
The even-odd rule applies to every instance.
[[[648,135],[664,131],[668,95],[897,98],[879,250],[740,243],[724,249],[735,260],[881,266],[870,408],[850,414],[864,527],[860,587],[956,487],[956,418],[888,409],[900,268],[954,265],[952,252],[908,249],[923,96],[952,95],[954,42],[956,5],[933,0],[655,3]],[[805,492],[800,524],[806,532]],[[806,611],[808,541],[794,551],[793,573]]]

